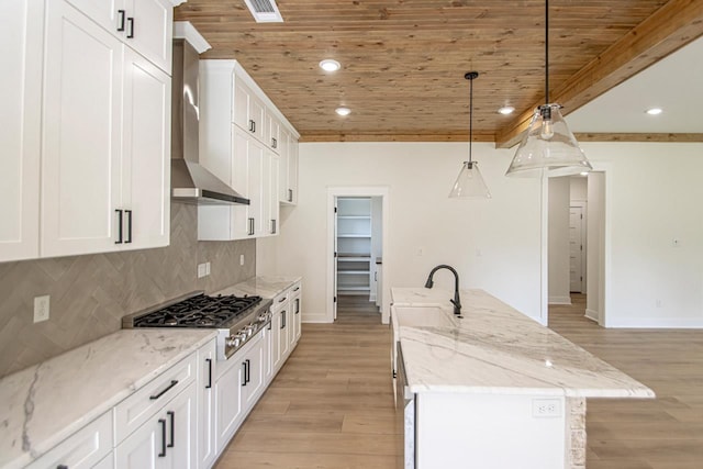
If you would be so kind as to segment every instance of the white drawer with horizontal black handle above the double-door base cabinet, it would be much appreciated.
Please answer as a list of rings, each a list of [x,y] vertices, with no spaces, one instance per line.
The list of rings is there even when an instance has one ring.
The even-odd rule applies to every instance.
[[[175,365],[114,407],[115,444],[120,444],[152,415],[196,381],[198,354]]]

